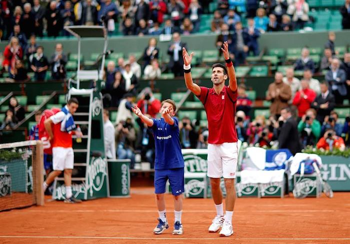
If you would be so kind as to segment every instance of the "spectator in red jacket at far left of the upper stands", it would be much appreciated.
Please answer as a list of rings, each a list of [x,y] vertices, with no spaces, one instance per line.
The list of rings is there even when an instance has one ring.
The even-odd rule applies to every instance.
[[[12,37],[3,51],[3,61],[2,66],[10,73],[14,69],[14,65],[17,59],[22,59],[23,50],[19,45],[17,37]],[[11,76],[12,77],[12,76]]]

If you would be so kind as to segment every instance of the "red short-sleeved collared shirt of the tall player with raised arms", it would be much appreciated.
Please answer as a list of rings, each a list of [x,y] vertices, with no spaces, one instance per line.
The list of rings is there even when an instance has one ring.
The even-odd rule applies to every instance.
[[[220,94],[216,94],[214,88],[201,86],[200,95],[197,97],[204,105],[208,120],[208,143],[237,142],[234,123],[237,90],[233,92],[225,86]]]

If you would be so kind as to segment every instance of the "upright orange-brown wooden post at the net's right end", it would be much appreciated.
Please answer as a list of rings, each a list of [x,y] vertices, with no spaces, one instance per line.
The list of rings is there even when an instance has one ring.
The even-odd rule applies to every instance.
[[[43,148],[40,140],[36,141],[36,167],[35,167],[35,182],[36,182],[36,205],[44,205],[44,193],[43,193]]]

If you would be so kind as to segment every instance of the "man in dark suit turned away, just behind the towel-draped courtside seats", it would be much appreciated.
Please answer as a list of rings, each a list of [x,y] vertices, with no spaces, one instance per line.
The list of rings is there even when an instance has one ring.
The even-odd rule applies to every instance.
[[[280,111],[280,114],[285,122],[283,123],[278,136],[278,147],[280,149],[287,148],[293,155],[295,155],[297,152],[301,151],[296,120],[291,116],[289,107],[283,108]]]

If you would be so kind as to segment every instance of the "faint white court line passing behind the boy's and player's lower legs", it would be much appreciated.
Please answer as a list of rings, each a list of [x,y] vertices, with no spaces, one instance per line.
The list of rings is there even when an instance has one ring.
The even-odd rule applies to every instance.
[[[157,212],[155,210],[27,210],[25,212],[35,212],[35,213],[96,213],[96,212],[107,212],[107,213],[119,213],[119,212],[127,212],[127,213],[154,213]],[[214,213],[213,210],[182,210],[185,213]],[[328,213],[328,212],[350,212],[350,211],[337,211],[337,210],[293,210],[292,213]],[[286,213],[285,210],[255,210],[255,211],[235,211],[235,213]]]

